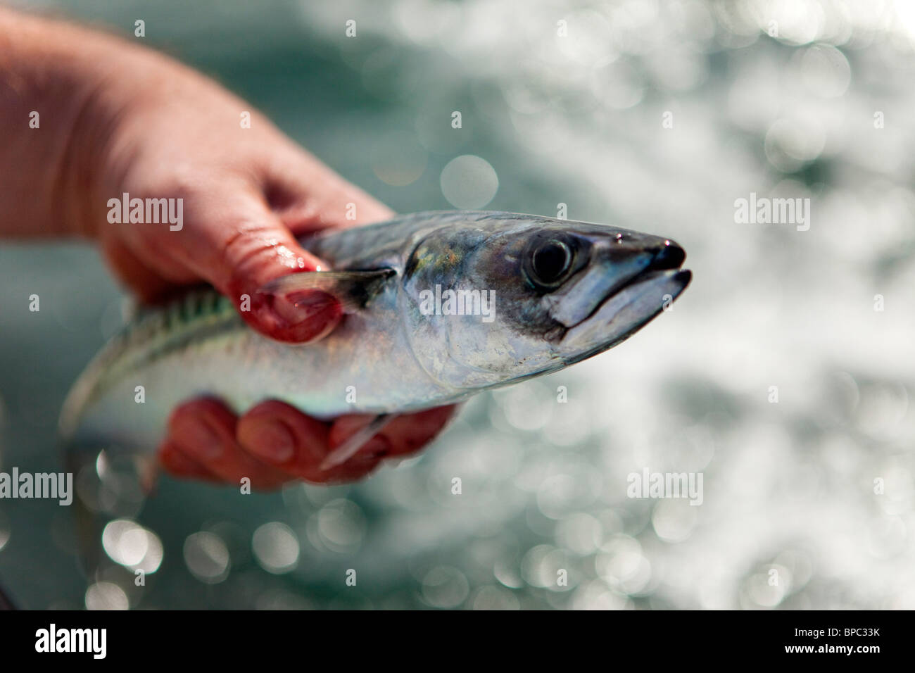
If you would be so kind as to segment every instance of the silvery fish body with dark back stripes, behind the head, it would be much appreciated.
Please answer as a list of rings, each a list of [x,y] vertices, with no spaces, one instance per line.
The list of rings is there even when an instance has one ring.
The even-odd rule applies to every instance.
[[[405,217],[302,243],[338,270],[401,271],[404,249],[429,228],[428,218]],[[397,290],[388,285],[371,309],[345,316],[327,338],[301,346],[251,330],[231,300],[213,289],[147,309],[81,374],[63,407],[61,434],[78,445],[148,450],[163,439],[170,411],[198,396],[219,397],[235,410],[279,399],[317,418],[436,406],[464,396],[436,384],[415,362],[398,320]]]

